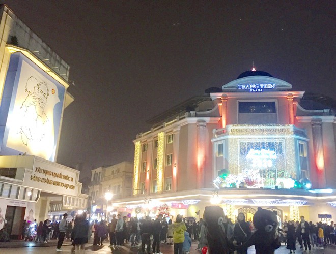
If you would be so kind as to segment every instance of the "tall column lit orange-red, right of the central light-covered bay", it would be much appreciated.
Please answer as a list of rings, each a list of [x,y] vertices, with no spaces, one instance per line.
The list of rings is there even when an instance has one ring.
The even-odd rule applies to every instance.
[[[319,188],[326,187],[325,167],[324,167],[324,152],[323,152],[323,137],[322,137],[322,120],[314,119],[312,124],[312,136],[314,146],[314,157],[317,169],[317,178]]]

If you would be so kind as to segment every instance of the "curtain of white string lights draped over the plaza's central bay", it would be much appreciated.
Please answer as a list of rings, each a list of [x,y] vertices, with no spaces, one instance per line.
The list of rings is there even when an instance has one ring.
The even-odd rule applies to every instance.
[[[295,154],[294,127],[291,124],[260,124],[260,125],[227,125],[229,170],[232,175],[239,176],[242,170],[258,169],[265,187],[274,187],[277,178],[296,178],[297,160]],[[246,147],[246,154],[241,154],[241,145],[253,144]],[[253,160],[246,157],[250,149],[262,150],[261,144],[272,144],[266,152],[275,152],[268,160],[257,160],[253,168]],[[256,148],[256,147],[258,148]],[[243,148],[243,147],[242,147]],[[264,162],[265,161],[265,162]],[[264,165],[265,164],[265,165]],[[256,181],[251,182],[255,187],[263,187]],[[248,184],[246,184],[248,186]]]

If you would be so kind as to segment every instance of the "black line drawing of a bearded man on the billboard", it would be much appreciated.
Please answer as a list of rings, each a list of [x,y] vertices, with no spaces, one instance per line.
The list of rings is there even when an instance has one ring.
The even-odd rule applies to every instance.
[[[23,111],[23,121],[20,134],[23,144],[30,140],[42,141],[46,132],[46,124],[49,122],[44,112],[44,107],[49,96],[47,83],[34,77],[29,77],[25,85],[27,97],[22,102],[20,109]]]

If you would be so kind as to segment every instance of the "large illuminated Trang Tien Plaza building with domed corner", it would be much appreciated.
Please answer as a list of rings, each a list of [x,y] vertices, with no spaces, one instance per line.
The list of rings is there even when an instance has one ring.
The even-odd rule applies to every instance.
[[[145,213],[150,200],[153,215],[165,203],[202,216],[212,201],[233,219],[258,206],[280,221],[334,217],[335,111],[312,99],[254,70],[152,118],[134,140],[133,198],[116,205]]]

